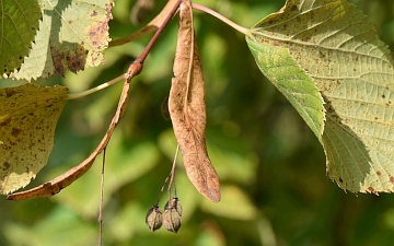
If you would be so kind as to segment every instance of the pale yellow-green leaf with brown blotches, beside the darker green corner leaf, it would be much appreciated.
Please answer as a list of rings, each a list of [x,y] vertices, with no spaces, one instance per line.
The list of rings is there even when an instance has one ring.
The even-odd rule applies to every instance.
[[[112,7],[113,0],[40,0],[43,21],[32,50],[10,77],[35,80],[103,63]]]

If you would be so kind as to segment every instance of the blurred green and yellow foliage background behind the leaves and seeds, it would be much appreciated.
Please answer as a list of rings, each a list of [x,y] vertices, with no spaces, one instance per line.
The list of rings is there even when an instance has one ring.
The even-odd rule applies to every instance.
[[[285,0],[196,0],[243,26],[252,26]],[[394,2],[355,0],[394,46]],[[165,1],[154,1],[141,25],[131,24],[135,1],[117,0],[113,39],[151,20]],[[135,12],[134,12],[135,13]],[[177,234],[144,224],[175,153],[171,121],[161,115],[169,94],[176,45],[173,20],[132,81],[127,112],[106,153],[104,245],[393,245],[394,196],[346,194],[325,174],[323,149],[298,113],[260,74],[242,34],[195,11],[206,80],[207,144],[221,178],[222,200],[212,203],[188,181],[178,159],[176,184],[183,204]],[[126,71],[149,37],[106,50],[106,63],[66,79],[71,92],[99,85]],[[2,80],[0,86],[20,82]],[[59,119],[49,163],[28,186],[79,164],[95,149],[115,113],[121,83],[71,101]],[[49,199],[0,200],[0,245],[96,245],[101,157],[92,169]],[[160,206],[165,203],[165,196]]]

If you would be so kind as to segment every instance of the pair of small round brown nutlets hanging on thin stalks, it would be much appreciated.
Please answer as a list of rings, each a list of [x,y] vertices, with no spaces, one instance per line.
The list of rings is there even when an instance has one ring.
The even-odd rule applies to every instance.
[[[160,229],[163,224],[164,227],[173,233],[176,233],[182,225],[182,206],[177,197],[174,197],[167,201],[164,206],[163,211],[154,204],[147,214],[146,222],[150,231],[154,232]]]

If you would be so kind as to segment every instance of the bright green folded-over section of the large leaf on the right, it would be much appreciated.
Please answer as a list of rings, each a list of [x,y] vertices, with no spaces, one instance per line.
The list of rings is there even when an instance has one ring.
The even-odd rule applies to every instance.
[[[312,78],[300,68],[289,49],[265,45],[246,37],[258,68],[290,101],[313,133],[322,141],[324,128],[323,98]]]

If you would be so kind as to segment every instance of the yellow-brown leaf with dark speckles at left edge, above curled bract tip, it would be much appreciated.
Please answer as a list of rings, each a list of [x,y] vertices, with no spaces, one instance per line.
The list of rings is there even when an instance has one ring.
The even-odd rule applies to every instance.
[[[67,87],[0,89],[0,194],[26,186],[47,163]]]

